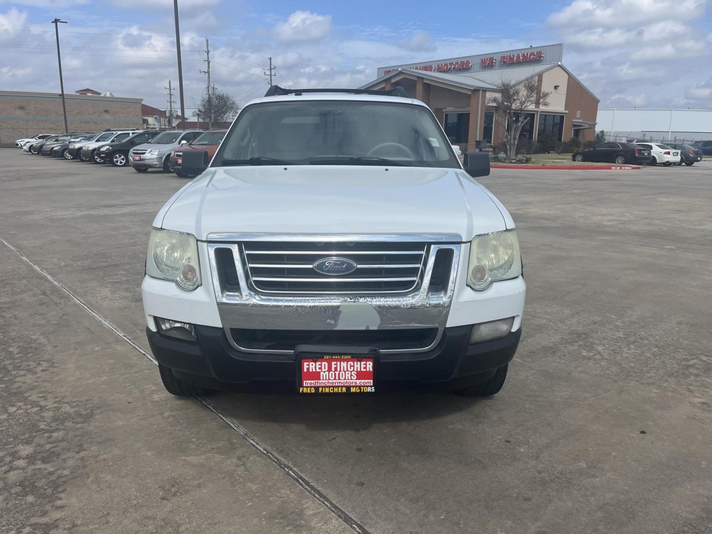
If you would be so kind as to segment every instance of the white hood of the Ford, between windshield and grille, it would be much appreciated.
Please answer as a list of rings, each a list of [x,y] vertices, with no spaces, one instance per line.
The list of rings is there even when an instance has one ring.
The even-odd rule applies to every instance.
[[[187,184],[154,226],[194,234],[477,234],[512,227],[461,169],[216,167]]]

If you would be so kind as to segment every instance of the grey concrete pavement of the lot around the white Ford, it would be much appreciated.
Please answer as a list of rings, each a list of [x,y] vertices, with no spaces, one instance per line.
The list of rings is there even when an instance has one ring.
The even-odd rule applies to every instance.
[[[712,530],[712,165],[482,182],[528,283],[500,394],[212,402],[371,533]],[[147,350],[148,231],[184,183],[0,150],[0,237]],[[0,532],[352,531],[4,244],[0,266]]]

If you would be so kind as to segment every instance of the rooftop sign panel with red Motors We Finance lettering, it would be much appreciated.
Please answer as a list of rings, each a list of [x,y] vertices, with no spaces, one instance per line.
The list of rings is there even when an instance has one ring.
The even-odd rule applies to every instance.
[[[427,63],[409,63],[391,67],[379,67],[379,78],[394,70],[409,68],[437,73],[464,74],[479,70],[492,70],[518,66],[521,63],[560,63],[563,56],[563,45],[547,45],[530,48],[520,48],[505,52],[481,54],[479,56],[464,56],[461,58],[441,59]]]

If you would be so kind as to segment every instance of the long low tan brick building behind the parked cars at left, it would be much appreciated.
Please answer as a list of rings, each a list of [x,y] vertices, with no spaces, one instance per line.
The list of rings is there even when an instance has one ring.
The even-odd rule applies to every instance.
[[[105,96],[83,89],[65,95],[70,132],[143,127],[142,98]],[[0,91],[0,145],[41,133],[63,133],[62,99],[57,93]]]

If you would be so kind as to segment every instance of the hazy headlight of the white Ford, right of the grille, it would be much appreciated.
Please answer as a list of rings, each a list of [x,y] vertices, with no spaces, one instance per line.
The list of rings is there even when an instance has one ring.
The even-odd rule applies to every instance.
[[[522,273],[519,241],[514,230],[476,236],[470,244],[467,285],[476,291],[493,282],[517,278]]]

